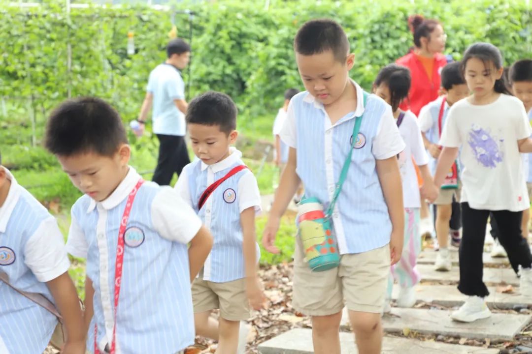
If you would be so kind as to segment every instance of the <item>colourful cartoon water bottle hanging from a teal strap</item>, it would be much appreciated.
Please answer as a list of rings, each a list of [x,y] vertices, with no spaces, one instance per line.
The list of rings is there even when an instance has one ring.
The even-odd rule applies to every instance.
[[[326,271],[340,264],[338,245],[332,236],[329,219],[317,198],[305,198],[301,201],[297,225],[305,258],[312,271]]]

